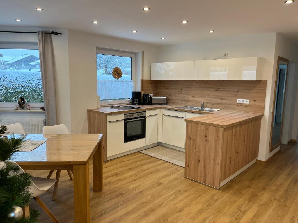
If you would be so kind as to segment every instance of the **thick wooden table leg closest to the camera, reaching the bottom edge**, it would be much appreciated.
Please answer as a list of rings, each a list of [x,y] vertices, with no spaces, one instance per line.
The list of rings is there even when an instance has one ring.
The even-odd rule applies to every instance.
[[[90,222],[89,164],[73,165],[75,222]]]

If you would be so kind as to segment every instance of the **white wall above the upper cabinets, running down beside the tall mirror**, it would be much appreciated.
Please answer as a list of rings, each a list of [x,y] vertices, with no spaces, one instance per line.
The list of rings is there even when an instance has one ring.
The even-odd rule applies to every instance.
[[[159,48],[158,62],[221,59],[224,53],[228,58],[263,57],[265,58],[264,80],[267,80],[265,111],[261,123],[260,160],[269,157],[271,130],[271,107],[273,101],[277,53],[295,61],[293,44],[285,44],[283,37],[276,33],[241,35],[217,40],[166,45]],[[289,53],[291,51],[291,53]],[[293,76],[294,77],[294,76]],[[293,86],[294,87],[294,86]],[[273,92],[272,92],[273,91]],[[288,110],[288,109],[287,109]],[[288,112],[288,111],[287,111]],[[294,117],[292,117],[293,120]],[[297,117],[298,119],[298,117]],[[289,126],[288,126],[289,128]],[[275,152],[275,151],[274,151]],[[272,155],[271,153],[270,155]]]

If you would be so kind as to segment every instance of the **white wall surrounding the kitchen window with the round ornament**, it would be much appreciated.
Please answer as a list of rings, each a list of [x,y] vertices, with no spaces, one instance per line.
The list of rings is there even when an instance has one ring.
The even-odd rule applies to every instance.
[[[145,78],[150,78],[151,63],[157,62],[157,46],[68,30],[72,133],[87,133],[87,109],[97,107],[97,47],[136,52],[136,74],[139,78],[142,75],[142,51],[144,51]],[[136,87],[140,89],[139,84]]]

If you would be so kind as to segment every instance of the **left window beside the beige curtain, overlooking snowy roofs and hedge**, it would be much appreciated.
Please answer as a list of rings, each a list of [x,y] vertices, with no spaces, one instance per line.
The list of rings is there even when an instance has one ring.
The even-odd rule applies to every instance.
[[[43,103],[37,45],[0,45],[0,102]]]

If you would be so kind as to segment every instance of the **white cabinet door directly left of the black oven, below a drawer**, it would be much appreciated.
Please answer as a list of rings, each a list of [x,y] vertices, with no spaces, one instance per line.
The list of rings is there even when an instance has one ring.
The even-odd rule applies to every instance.
[[[107,156],[124,152],[124,120],[107,122]]]

